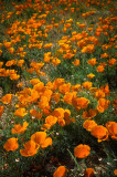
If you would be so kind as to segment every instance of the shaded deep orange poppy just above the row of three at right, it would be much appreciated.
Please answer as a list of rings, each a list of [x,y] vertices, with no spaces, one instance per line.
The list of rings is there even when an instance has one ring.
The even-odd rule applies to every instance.
[[[96,110],[89,108],[88,112],[87,112],[87,111],[83,112],[82,117],[83,117],[84,119],[86,119],[86,118],[92,118],[92,117],[95,117],[96,114],[97,114],[97,111],[96,111]]]

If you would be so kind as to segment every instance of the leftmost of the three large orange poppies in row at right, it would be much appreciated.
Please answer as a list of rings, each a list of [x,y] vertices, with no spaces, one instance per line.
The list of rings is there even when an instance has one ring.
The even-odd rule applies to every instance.
[[[95,123],[95,121],[93,119],[86,119],[83,124],[83,127],[86,129],[86,131],[92,131],[95,126],[97,126],[97,124]]]

